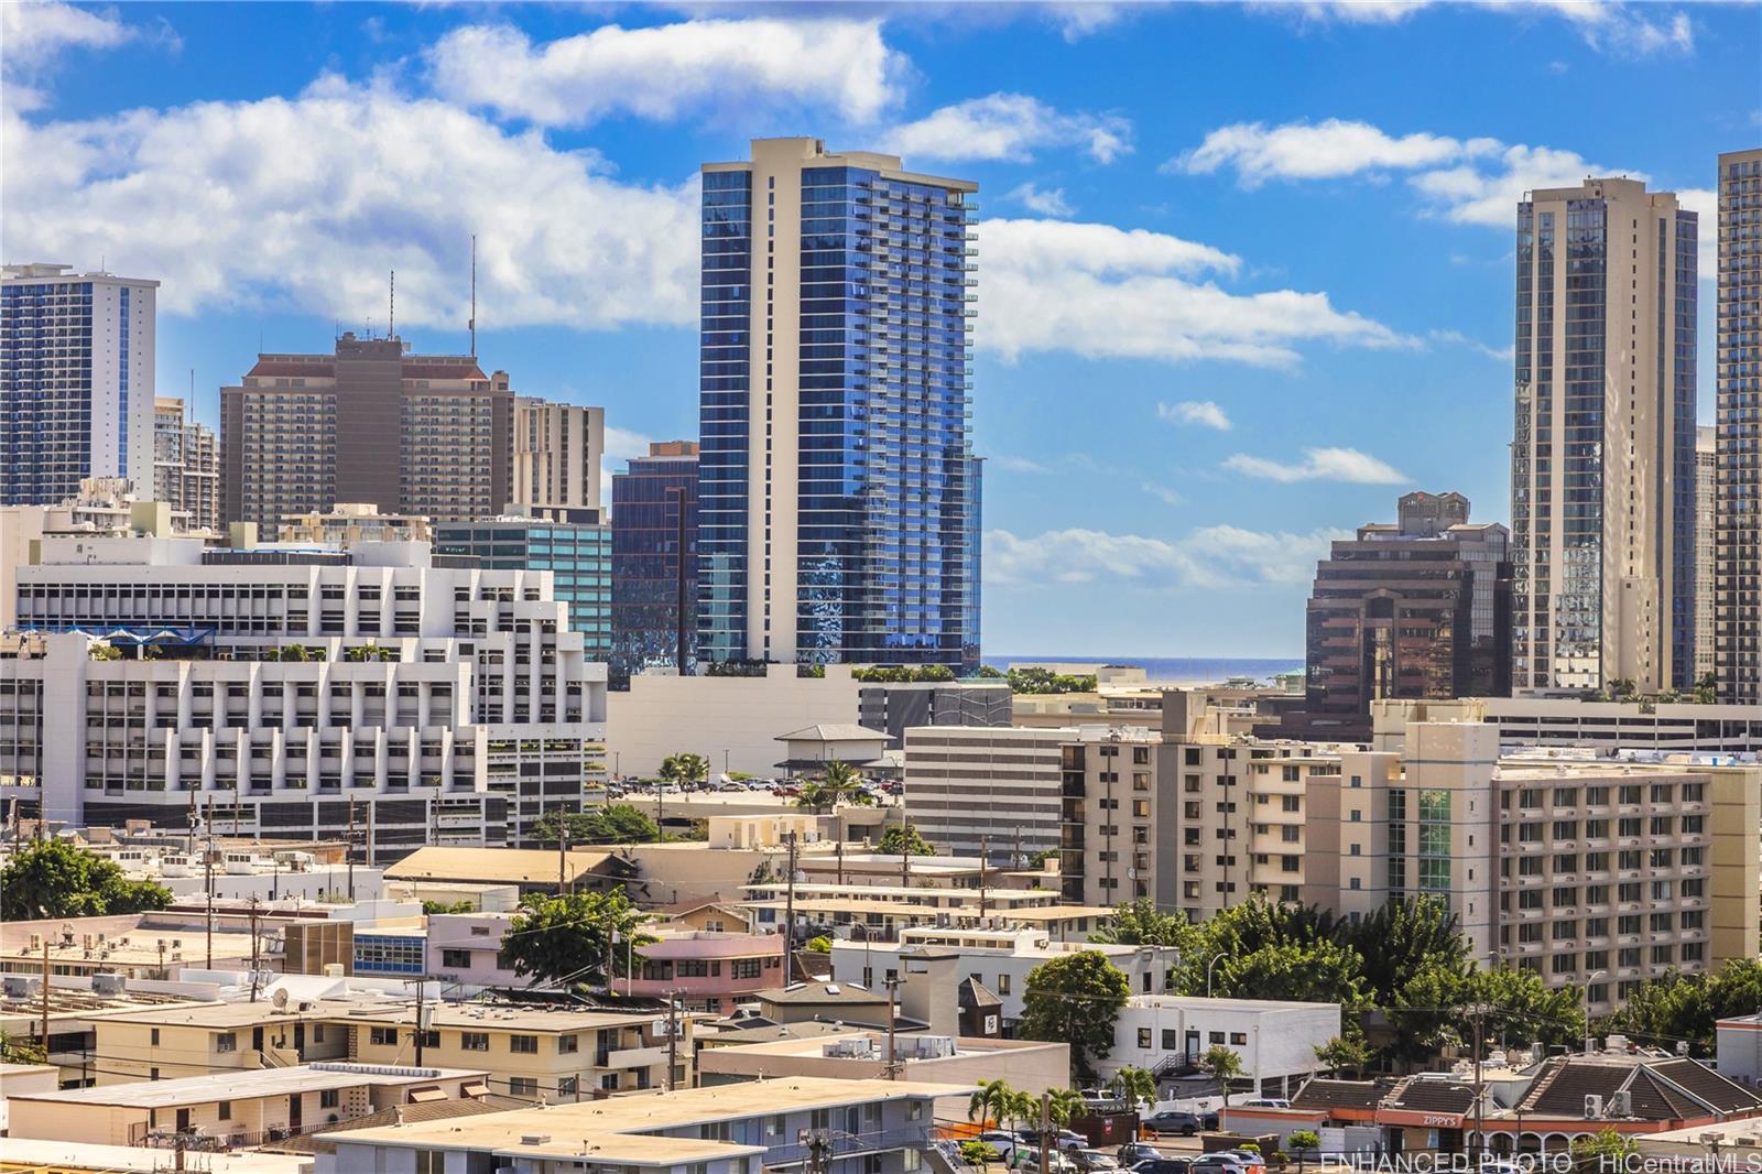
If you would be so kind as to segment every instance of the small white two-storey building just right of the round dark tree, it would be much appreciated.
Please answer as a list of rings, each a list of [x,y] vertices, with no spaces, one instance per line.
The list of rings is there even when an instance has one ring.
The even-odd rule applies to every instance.
[[[1121,1010],[1114,1051],[1098,1066],[1103,1077],[1124,1066],[1172,1075],[1221,1045],[1242,1058],[1255,1088],[1290,1096],[1322,1068],[1316,1047],[1337,1035],[1337,1003],[1140,994]]]

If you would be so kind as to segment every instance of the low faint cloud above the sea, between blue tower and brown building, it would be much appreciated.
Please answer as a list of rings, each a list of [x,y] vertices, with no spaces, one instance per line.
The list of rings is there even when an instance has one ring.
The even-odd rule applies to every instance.
[[[1304,583],[1344,531],[1260,532],[1207,525],[1177,539],[1091,529],[1018,538],[985,532],[985,585],[1112,582],[1145,589]]]

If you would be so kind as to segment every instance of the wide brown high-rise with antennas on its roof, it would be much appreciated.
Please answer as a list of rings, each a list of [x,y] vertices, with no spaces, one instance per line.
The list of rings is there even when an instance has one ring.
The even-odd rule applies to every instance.
[[[222,513],[275,534],[337,502],[437,522],[509,501],[507,374],[469,354],[409,354],[402,338],[344,333],[333,354],[259,354],[220,388]]]

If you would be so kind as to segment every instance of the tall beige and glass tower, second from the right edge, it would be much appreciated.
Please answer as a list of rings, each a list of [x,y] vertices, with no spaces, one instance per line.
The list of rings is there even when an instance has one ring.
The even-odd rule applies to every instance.
[[[1695,213],[1635,180],[1517,204],[1512,686],[1695,668]]]

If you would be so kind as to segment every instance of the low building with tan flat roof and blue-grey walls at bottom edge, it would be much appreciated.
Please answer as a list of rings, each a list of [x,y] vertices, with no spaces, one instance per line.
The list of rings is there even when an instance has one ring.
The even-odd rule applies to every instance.
[[[657,1174],[745,1174],[807,1167],[909,1174],[934,1137],[936,1102],[971,1086],[911,1081],[779,1081],[620,1096],[474,1118],[335,1133],[317,1174],[618,1167]],[[862,1163],[860,1167],[856,1163]]]

